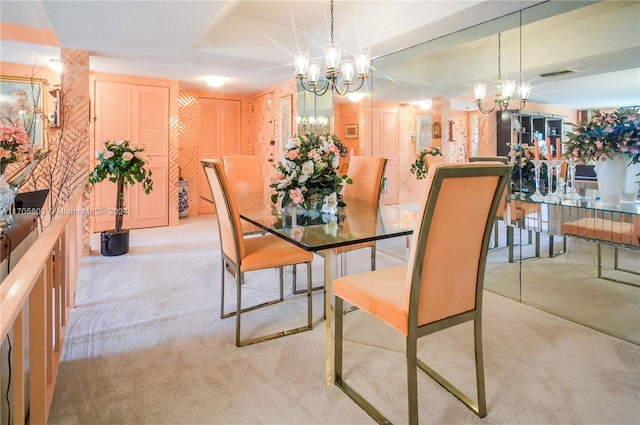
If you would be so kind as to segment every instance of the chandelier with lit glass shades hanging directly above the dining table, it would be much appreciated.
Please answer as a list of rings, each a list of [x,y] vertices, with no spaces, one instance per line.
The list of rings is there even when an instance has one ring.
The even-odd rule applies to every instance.
[[[369,76],[371,55],[368,51],[359,51],[354,55],[353,60],[341,61],[342,48],[333,42],[333,0],[331,0],[331,43],[325,47],[324,57],[326,61],[325,80],[320,81],[322,68],[317,60],[311,60],[307,52],[296,52],[293,55],[296,78],[300,80],[302,88],[317,96],[322,96],[329,88],[341,96],[362,88],[364,80]],[[357,88],[353,87],[353,79],[356,75],[360,80]],[[305,80],[307,81],[306,85]]]

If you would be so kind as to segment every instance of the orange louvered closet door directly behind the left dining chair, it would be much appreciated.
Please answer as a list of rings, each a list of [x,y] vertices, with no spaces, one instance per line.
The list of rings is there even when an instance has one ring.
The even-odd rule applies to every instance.
[[[238,100],[198,99],[198,155],[202,159],[220,159],[225,155],[240,155],[242,139],[242,108]],[[198,161],[200,166],[200,162]],[[198,181],[198,214],[215,212],[209,182],[200,166]]]

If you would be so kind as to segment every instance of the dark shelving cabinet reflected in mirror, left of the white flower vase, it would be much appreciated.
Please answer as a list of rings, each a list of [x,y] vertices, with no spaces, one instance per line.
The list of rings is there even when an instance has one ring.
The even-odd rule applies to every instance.
[[[555,155],[556,142],[562,137],[564,118],[537,112],[496,112],[497,154],[507,156],[511,145],[533,146],[534,140],[537,139],[541,154],[545,155],[550,147],[551,154]]]

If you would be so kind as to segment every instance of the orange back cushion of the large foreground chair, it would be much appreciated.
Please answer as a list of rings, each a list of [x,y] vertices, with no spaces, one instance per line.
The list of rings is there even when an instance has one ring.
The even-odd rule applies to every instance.
[[[428,197],[433,191],[431,186],[435,171],[440,167],[460,167],[466,164],[442,163],[429,168],[429,189],[423,193],[418,220],[424,217],[424,197]],[[482,165],[503,164],[486,162]],[[423,264],[420,277],[419,326],[475,308],[478,267],[486,220],[498,183],[499,178],[495,176],[443,180],[424,253],[420,258],[416,258],[419,233],[415,233],[408,263],[407,305],[410,301],[411,270],[416,262]]]

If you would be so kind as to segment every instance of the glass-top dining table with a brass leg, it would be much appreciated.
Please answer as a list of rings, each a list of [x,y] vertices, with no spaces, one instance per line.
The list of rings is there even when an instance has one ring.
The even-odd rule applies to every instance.
[[[325,319],[327,333],[327,385],[332,382],[331,282],[339,277],[336,248],[413,233],[415,211],[394,205],[378,205],[344,199],[337,215],[298,210],[292,214],[265,202],[259,194],[236,196],[240,217],[277,237],[324,257]],[[286,209],[285,209],[286,210]]]

